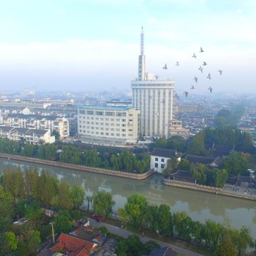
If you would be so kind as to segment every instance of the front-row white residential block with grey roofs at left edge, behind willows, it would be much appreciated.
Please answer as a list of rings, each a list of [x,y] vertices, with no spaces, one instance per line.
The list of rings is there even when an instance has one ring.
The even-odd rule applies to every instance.
[[[9,140],[33,145],[55,142],[55,137],[50,135],[49,129],[43,130],[0,126],[0,138],[7,138]]]

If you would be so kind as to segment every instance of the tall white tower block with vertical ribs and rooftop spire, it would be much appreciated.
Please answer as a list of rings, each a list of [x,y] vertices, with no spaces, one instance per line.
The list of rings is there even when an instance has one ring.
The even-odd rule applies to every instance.
[[[132,105],[140,109],[140,135],[170,137],[175,80],[146,73],[144,34],[140,34],[138,78],[132,80]]]

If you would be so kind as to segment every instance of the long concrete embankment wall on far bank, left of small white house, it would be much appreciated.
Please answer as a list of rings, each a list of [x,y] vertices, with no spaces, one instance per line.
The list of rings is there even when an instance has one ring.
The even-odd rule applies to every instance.
[[[97,167],[89,167],[85,165],[71,165],[64,162],[55,162],[50,160],[44,160],[44,159],[38,159],[33,157],[22,157],[14,154],[0,154],[0,158],[4,159],[12,159],[12,160],[18,160],[23,162],[31,162],[34,164],[39,165],[49,165],[53,167],[64,167],[67,169],[72,170],[82,170],[84,172],[89,173],[98,173],[98,174],[105,174],[110,176],[118,176],[121,178],[132,178],[135,180],[143,180],[151,176],[152,173],[154,173],[154,170],[148,170],[146,173],[142,174],[136,174],[136,173],[125,173],[118,170],[109,170],[109,169],[103,169],[103,168],[97,168]]]

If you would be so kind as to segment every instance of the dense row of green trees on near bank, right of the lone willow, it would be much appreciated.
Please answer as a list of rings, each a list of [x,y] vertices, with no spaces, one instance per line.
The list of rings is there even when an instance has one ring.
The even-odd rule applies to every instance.
[[[247,227],[238,230],[209,219],[205,223],[193,221],[184,211],[173,213],[170,206],[148,203],[143,195],[129,196],[124,208],[118,208],[118,214],[132,227],[181,238],[188,244],[193,242],[217,256],[244,255],[249,247],[256,249],[256,241]],[[223,254],[227,247],[227,254]]]

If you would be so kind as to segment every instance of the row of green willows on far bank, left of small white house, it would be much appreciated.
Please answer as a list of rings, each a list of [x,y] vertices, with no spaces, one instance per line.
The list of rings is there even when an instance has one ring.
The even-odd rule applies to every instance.
[[[82,150],[78,146],[66,145],[58,151],[56,144],[43,144],[40,146],[18,143],[12,140],[0,139],[0,153],[18,154],[23,157],[60,161],[72,165],[86,165],[102,167],[125,172],[145,173],[150,166],[150,156],[146,153],[132,154],[124,150],[121,153],[103,152],[96,149]]]

